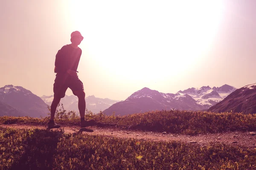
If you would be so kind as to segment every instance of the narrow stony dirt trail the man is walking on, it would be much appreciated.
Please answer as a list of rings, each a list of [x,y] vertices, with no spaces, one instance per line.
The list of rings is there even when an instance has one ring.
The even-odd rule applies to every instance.
[[[0,127],[12,128],[39,128],[46,129],[44,126],[38,125],[0,125]],[[238,145],[242,147],[249,147],[250,149],[256,148],[256,135],[251,135],[249,132],[225,132],[214,134],[201,134],[197,136],[179,135],[172,133],[159,133],[159,132],[144,132],[139,130],[122,130],[119,128],[106,128],[106,127],[87,127],[80,128],[78,126],[62,126],[65,133],[87,133],[90,135],[102,135],[106,137],[119,137],[119,138],[134,138],[151,141],[180,141],[191,142],[200,145],[209,144],[209,142],[223,142],[225,144]],[[54,130],[54,129],[53,129]]]

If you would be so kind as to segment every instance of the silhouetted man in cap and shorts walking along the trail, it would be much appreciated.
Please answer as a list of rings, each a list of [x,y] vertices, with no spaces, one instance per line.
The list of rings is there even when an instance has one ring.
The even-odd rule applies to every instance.
[[[51,118],[48,122],[48,128],[61,127],[54,122],[54,115],[58,103],[65,96],[67,88],[70,88],[73,94],[78,97],[78,108],[81,117],[80,127],[94,124],[94,120],[84,120],[86,106],[84,86],[77,75],[77,68],[82,54],[82,50],[78,45],[83,39],[84,37],[79,31],[72,32],[71,44],[64,45],[56,54],[54,72],[57,74],[53,84],[54,98],[51,105]]]

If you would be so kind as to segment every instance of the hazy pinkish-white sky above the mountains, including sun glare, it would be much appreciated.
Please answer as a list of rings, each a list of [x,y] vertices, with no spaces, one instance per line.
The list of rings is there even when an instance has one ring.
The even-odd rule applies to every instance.
[[[86,96],[241,88],[256,82],[255,9],[255,0],[0,0],[0,87],[53,95],[55,55],[78,30]]]

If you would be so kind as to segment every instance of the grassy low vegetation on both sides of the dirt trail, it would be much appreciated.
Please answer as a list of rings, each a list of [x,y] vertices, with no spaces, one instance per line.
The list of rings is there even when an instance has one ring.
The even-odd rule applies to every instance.
[[[98,126],[145,131],[198,134],[229,130],[256,130],[256,115],[201,111],[151,111],[128,116],[94,115]],[[0,124],[46,125],[49,117],[0,117]],[[78,125],[74,112],[58,109],[55,121]],[[11,129],[0,127],[0,169],[256,169],[256,149],[222,143],[151,142],[84,134],[66,134],[63,129]]]

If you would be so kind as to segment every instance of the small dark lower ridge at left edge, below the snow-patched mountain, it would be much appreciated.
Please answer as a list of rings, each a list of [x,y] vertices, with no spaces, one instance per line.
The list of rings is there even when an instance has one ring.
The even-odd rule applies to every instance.
[[[15,109],[12,106],[0,101],[0,116],[27,116],[28,113]]]

